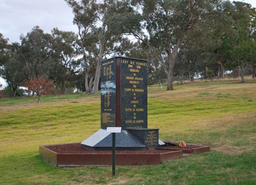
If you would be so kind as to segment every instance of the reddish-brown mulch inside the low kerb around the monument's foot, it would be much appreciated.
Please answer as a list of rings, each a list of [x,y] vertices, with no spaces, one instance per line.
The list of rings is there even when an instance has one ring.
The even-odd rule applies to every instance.
[[[81,147],[80,143],[46,146],[56,153],[112,153],[112,150],[90,151]],[[116,153],[165,153],[161,150],[116,150]]]

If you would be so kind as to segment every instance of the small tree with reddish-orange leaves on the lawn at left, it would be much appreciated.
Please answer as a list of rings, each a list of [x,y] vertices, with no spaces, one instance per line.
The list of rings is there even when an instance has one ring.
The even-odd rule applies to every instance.
[[[36,93],[38,97],[37,103],[40,103],[40,97],[42,95],[49,95],[52,92],[52,88],[54,87],[54,83],[52,80],[47,80],[44,77],[34,78],[24,83],[24,85],[28,88],[27,92],[30,95],[31,91]]]

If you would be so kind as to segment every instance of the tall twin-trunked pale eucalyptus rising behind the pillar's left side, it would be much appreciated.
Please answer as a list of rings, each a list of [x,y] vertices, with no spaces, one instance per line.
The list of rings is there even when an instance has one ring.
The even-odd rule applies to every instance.
[[[98,92],[100,61],[104,56],[109,56],[110,49],[115,48],[115,42],[118,42],[117,38],[120,38],[120,35],[128,33],[127,30],[140,23],[136,21],[137,16],[130,16],[136,14],[134,14],[134,9],[130,6],[129,1],[84,0],[77,2],[66,0],[66,2],[72,8],[73,22],[78,27],[86,76],[86,90],[95,94]],[[97,50],[97,60],[91,61],[88,56],[89,53],[95,53],[92,51],[94,49]],[[93,80],[89,80],[89,72],[92,67],[95,67],[95,73],[91,76]],[[89,87],[90,81],[93,81],[92,88]]]

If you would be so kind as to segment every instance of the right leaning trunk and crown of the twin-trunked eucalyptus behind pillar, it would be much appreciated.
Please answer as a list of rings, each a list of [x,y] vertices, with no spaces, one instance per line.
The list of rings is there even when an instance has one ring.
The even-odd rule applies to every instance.
[[[139,14],[130,6],[129,1],[104,1],[99,4],[98,17],[101,27],[97,30],[99,35],[99,55],[96,65],[95,79],[92,93],[98,92],[100,77],[100,61],[105,52],[115,42],[118,42],[121,34],[129,33],[131,29],[139,27]],[[119,39],[117,39],[119,38]]]

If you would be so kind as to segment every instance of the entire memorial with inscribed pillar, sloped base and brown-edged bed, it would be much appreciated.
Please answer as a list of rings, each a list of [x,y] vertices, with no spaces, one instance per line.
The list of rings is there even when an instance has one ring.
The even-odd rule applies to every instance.
[[[50,164],[157,165],[183,155],[210,151],[209,146],[187,144],[188,147],[179,147],[177,142],[163,143],[158,138],[157,128],[147,128],[146,60],[125,57],[103,60],[100,87],[101,128],[82,143],[39,146],[39,155]],[[115,152],[113,155],[108,151],[112,149],[112,133],[107,132],[107,127],[119,127],[118,133],[113,134],[116,163],[113,162]]]

